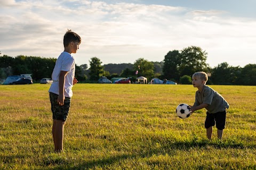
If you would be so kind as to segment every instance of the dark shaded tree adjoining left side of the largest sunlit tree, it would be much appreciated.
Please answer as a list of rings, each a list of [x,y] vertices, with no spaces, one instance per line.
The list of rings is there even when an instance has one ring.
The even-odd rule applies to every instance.
[[[163,74],[165,79],[179,80],[180,53],[172,50],[164,56]]]

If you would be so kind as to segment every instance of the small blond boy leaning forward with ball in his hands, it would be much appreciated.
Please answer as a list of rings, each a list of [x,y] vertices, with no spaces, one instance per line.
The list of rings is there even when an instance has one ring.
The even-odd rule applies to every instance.
[[[226,123],[226,108],[229,108],[229,104],[217,91],[205,86],[207,80],[208,76],[205,72],[193,74],[192,84],[198,90],[196,91],[195,103],[190,109],[191,113],[193,113],[199,109],[206,108],[204,126],[206,128],[207,138],[211,140],[212,126],[216,123],[218,138],[221,140]]]

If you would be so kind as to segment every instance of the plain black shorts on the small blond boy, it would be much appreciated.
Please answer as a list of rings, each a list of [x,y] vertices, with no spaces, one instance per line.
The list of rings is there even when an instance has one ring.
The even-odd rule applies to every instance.
[[[214,126],[216,123],[216,128],[219,130],[225,129],[226,124],[226,111],[218,112],[218,113],[212,113],[209,112],[206,113],[206,119],[204,122],[204,126],[206,129],[210,128],[211,126]]]

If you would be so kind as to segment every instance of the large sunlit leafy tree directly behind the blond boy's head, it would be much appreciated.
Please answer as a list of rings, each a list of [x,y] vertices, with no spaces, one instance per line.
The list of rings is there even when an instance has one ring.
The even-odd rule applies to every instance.
[[[184,48],[180,54],[180,77],[182,75],[193,75],[195,72],[208,72],[209,65],[206,64],[207,53],[200,47],[191,46]]]

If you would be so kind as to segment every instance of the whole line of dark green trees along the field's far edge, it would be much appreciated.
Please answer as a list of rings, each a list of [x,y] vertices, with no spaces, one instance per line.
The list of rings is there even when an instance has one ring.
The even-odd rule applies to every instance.
[[[0,79],[9,75],[31,73],[35,81],[50,78],[56,58],[35,56],[0,56]],[[105,64],[98,57],[92,57],[90,65],[76,65],[75,76],[79,82],[96,82],[100,77],[109,79],[114,77],[143,76],[172,80],[181,84],[190,84],[191,76],[198,71],[209,75],[207,84],[256,85],[256,64],[244,67],[230,66],[227,62],[211,68],[206,63],[207,53],[200,47],[190,46],[182,50],[172,50],[164,56],[162,62],[150,62],[139,58],[133,64]]]

